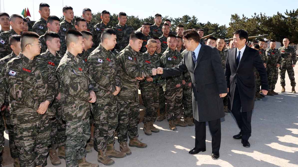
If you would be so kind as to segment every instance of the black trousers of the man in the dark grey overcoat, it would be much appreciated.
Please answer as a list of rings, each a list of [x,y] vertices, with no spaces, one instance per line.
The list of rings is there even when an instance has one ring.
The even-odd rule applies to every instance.
[[[212,152],[219,151],[221,147],[221,119],[208,121],[212,135]],[[195,147],[206,148],[206,122],[195,120]]]

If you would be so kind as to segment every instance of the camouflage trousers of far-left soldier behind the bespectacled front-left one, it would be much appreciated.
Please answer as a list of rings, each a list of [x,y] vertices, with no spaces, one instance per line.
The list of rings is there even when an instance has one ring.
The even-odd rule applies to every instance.
[[[11,125],[10,123],[10,113],[8,111],[8,109],[4,109],[3,110],[3,114],[5,117],[5,123],[6,123],[6,127],[8,130],[8,138],[9,138],[9,149],[10,149],[10,156],[12,158],[18,158],[18,149],[15,146],[15,140],[13,137],[13,125]]]

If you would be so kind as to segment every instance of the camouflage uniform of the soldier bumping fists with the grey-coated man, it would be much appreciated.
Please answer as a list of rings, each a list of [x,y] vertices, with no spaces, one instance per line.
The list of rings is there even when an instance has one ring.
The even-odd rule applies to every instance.
[[[122,89],[117,96],[119,113],[118,142],[126,142],[127,133],[129,138],[139,137],[137,124],[140,118],[139,81],[135,78],[152,75],[151,70],[140,69],[140,56],[140,53],[134,51],[129,45],[117,55],[120,65],[117,69],[119,69],[122,85]]]

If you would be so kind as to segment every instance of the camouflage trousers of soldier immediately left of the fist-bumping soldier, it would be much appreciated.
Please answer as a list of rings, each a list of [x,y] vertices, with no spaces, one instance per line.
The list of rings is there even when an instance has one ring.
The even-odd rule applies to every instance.
[[[102,98],[103,103],[92,103],[94,115],[94,148],[105,149],[115,143],[115,130],[118,126],[117,101]],[[96,144],[96,146],[95,146]]]

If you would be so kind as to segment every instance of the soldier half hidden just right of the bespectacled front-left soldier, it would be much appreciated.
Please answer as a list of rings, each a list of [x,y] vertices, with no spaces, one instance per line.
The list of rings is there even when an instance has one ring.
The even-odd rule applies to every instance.
[[[59,62],[61,60],[61,56],[58,55],[58,51],[60,50],[60,37],[58,33],[48,32],[45,35],[45,41],[47,44],[46,52],[39,55],[39,58],[43,58],[48,63],[49,68],[52,70],[52,75],[58,77],[55,73]],[[55,94],[54,101],[50,106],[52,112],[55,113],[55,117],[51,119],[51,146],[49,146],[49,157],[53,165],[57,166],[61,164],[59,157],[65,158],[65,121],[62,120],[62,110],[60,105],[60,84],[56,82],[56,87],[58,88]],[[56,152],[57,147],[59,148],[58,154]]]

